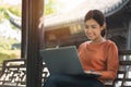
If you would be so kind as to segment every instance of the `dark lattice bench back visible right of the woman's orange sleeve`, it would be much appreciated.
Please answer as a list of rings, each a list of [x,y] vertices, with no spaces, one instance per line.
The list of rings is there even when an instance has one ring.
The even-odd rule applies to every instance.
[[[131,50],[119,51],[119,64],[117,78],[106,87],[131,87]]]

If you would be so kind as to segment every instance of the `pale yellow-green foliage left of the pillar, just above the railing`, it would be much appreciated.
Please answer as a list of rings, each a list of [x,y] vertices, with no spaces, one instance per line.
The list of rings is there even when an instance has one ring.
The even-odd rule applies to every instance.
[[[20,58],[20,50],[11,50],[11,46],[16,42],[15,39],[0,37],[0,63],[3,60]]]

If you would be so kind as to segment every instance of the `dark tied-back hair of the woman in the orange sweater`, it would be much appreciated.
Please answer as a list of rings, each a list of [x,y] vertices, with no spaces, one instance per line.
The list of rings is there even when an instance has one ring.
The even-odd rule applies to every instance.
[[[103,26],[104,24],[106,24],[106,17],[103,14],[103,12],[100,12],[99,10],[91,10],[87,12],[87,14],[84,17],[84,22],[86,22],[87,20],[95,20],[100,26]],[[106,27],[102,30],[102,36],[105,37],[106,36]]]

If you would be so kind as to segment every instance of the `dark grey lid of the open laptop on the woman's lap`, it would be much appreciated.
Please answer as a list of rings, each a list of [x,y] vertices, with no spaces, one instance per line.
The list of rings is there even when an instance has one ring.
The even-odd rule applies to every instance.
[[[85,74],[75,46],[44,49],[40,57],[50,74]]]

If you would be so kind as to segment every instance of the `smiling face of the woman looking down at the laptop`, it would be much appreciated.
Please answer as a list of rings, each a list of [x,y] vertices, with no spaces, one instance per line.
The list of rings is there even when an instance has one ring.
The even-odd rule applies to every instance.
[[[102,38],[100,32],[104,26],[100,26],[95,20],[91,18],[85,22],[85,35],[88,39],[95,41]]]

